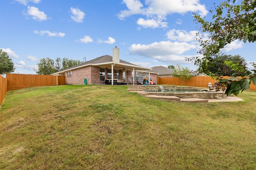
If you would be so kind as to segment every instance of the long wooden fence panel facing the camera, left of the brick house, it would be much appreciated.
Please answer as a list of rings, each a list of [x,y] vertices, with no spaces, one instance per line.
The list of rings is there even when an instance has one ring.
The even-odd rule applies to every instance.
[[[57,83],[65,84],[65,76],[6,74],[6,79],[7,91],[37,86],[56,86]]]

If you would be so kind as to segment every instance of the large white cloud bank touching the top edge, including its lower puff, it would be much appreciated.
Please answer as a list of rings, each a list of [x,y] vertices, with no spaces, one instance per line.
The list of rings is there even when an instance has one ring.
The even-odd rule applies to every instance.
[[[166,27],[167,23],[162,20],[166,20],[166,16],[169,14],[199,12],[201,16],[206,16],[208,13],[206,6],[200,4],[199,1],[200,0],[146,0],[145,4],[142,4],[139,0],[123,0],[123,3],[126,4],[128,9],[120,11],[118,18],[124,20],[126,17],[141,14],[146,16],[146,19],[138,20],[138,24],[142,24],[144,27],[153,27],[154,25],[156,25],[156,27],[160,27],[160,25],[161,27]],[[161,24],[158,25],[153,21]],[[178,24],[180,24],[180,22],[178,22]]]

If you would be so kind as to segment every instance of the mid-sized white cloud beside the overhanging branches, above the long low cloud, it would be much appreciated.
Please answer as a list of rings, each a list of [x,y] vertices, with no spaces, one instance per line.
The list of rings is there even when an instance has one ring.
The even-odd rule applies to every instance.
[[[182,42],[191,42],[196,41],[196,33],[198,31],[185,31],[185,30],[176,30],[171,29],[166,33],[166,36],[170,40],[182,41]]]

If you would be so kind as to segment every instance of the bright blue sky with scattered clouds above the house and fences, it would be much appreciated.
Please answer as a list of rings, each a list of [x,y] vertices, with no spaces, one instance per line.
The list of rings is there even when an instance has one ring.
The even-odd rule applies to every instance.
[[[220,4],[221,0],[215,0]],[[0,49],[15,73],[36,74],[40,59],[86,61],[111,55],[151,68],[187,62],[199,44],[192,12],[211,19],[210,0],[4,0],[0,10]],[[223,49],[255,61],[254,44],[235,41]]]

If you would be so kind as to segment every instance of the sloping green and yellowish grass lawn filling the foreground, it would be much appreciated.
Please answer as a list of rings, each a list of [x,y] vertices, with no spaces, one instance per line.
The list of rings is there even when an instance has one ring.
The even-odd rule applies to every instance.
[[[127,86],[10,91],[0,109],[0,169],[256,168],[255,91],[241,102],[179,103]]]

